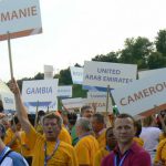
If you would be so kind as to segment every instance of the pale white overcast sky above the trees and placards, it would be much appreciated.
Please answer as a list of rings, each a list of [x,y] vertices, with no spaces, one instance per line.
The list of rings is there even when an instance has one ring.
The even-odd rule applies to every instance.
[[[154,41],[166,29],[165,0],[40,0],[43,33],[11,40],[15,79],[43,65],[66,69],[123,49],[126,38]],[[8,44],[0,42],[0,79],[10,80]]]

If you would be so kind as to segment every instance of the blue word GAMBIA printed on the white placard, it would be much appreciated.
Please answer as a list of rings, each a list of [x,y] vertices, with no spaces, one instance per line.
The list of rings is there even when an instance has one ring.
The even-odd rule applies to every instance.
[[[52,87],[28,87],[27,94],[51,94]]]

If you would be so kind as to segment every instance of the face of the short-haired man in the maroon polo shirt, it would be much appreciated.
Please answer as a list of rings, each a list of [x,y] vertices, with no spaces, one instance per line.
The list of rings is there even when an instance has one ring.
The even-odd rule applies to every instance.
[[[117,139],[117,143],[129,143],[135,136],[136,129],[134,123],[129,117],[116,118],[114,123],[114,135]]]

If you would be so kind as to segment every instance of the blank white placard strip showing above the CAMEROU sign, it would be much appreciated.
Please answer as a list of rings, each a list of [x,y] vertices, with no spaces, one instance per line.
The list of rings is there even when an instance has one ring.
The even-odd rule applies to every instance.
[[[157,69],[157,70],[141,71],[138,72],[138,79],[144,79],[151,75],[157,75],[158,72],[166,73],[166,68]]]

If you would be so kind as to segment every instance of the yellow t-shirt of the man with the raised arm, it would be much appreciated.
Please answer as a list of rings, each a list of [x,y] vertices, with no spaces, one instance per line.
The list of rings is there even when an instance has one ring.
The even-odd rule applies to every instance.
[[[30,133],[27,134],[27,145],[33,151],[32,166],[44,165],[44,143],[45,137],[31,126]],[[46,155],[51,155],[54,151],[55,142],[46,142]],[[60,141],[60,145],[54,155],[49,159],[46,166],[77,166],[76,154],[74,148]]]

